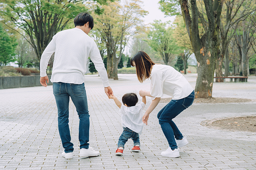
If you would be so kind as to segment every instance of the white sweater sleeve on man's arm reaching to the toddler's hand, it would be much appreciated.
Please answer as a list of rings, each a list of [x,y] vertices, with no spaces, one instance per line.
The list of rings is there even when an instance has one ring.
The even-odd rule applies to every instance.
[[[101,59],[101,53],[99,52],[99,48],[97,47],[96,43],[93,41],[93,47],[91,48],[89,57],[91,61],[94,63],[96,70],[99,73],[99,76],[101,77],[101,81],[104,85],[104,87],[108,87],[108,74],[105,69],[104,63]]]

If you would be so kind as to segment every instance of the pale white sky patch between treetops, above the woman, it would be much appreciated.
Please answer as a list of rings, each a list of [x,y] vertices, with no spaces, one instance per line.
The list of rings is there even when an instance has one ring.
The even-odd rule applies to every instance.
[[[164,13],[159,9],[159,0],[141,0],[143,4],[141,7],[148,11],[149,14],[144,17],[144,23],[152,23],[154,20],[161,20],[162,22],[173,21],[175,19],[172,17],[165,17]]]

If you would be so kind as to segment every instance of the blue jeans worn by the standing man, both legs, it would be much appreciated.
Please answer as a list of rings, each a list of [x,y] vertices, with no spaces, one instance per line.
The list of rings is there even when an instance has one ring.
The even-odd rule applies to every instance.
[[[74,150],[71,143],[71,136],[69,131],[69,96],[75,105],[77,114],[79,116],[79,141],[80,149],[89,148],[89,111],[87,104],[87,97],[85,85],[70,84],[70,83],[53,83],[53,94],[55,96],[58,108],[58,129],[60,133],[61,142],[66,153]]]

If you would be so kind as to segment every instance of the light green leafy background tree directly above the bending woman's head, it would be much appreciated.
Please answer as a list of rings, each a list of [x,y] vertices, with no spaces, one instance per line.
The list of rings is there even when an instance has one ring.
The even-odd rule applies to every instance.
[[[176,49],[173,39],[173,28],[167,27],[168,23],[162,23],[161,20],[154,20],[151,30],[148,34],[148,45],[156,51],[163,59],[165,65],[174,58],[171,54],[174,54]]]

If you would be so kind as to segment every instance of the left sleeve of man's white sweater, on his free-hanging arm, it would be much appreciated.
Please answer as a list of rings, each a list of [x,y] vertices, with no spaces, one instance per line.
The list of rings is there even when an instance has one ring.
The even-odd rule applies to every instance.
[[[50,43],[47,45],[46,49],[44,49],[44,52],[42,53],[41,60],[40,60],[40,76],[45,77],[48,62],[50,60],[50,57],[55,52],[55,41],[52,39]]]

